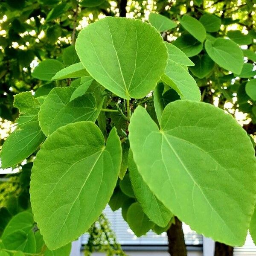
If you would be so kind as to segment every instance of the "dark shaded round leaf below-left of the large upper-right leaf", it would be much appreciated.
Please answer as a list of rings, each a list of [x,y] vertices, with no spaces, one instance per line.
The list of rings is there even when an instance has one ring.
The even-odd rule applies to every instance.
[[[195,66],[189,67],[189,70],[200,79],[208,76],[215,64],[208,54],[194,56],[191,60],[195,63]]]

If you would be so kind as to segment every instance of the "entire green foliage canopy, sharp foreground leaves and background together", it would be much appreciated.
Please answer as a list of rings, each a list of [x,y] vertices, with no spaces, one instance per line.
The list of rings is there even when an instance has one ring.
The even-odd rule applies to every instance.
[[[256,3],[230,2],[159,0],[136,19],[107,0],[1,3],[0,116],[17,118],[1,162],[32,166],[31,208],[0,208],[1,253],[69,255],[108,203],[137,236],[177,216],[226,244],[256,239],[255,130],[225,113],[256,123]]]

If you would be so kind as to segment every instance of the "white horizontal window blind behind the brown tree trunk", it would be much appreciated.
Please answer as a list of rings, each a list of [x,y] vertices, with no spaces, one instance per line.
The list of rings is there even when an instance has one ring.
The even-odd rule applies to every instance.
[[[161,235],[149,231],[145,236],[137,237],[134,235],[128,224],[122,218],[121,209],[113,212],[109,206],[103,211],[111,223],[111,228],[116,234],[116,239],[121,245],[167,245],[166,233]],[[183,224],[185,242],[187,245],[201,245],[203,237],[192,231],[190,227]],[[82,236],[82,244],[87,244],[88,234]]]

